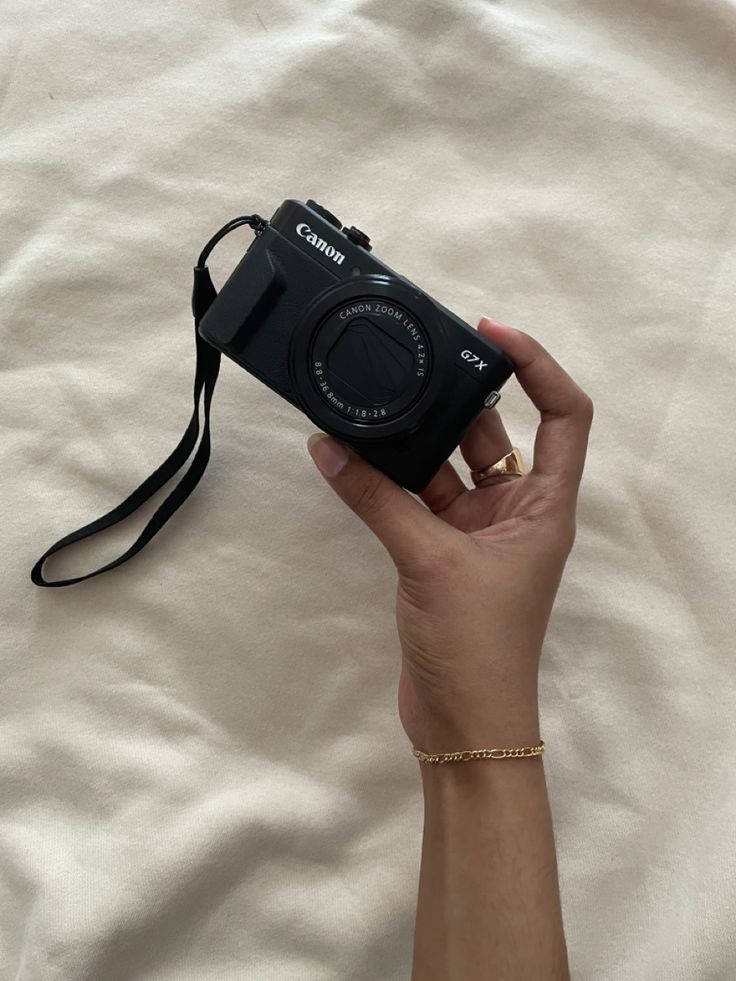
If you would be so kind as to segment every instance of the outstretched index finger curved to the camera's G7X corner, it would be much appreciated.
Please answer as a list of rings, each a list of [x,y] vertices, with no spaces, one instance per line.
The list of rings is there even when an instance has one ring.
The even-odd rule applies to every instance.
[[[478,330],[516,365],[516,377],[539,409],[533,473],[559,479],[577,492],[583,474],[593,403],[533,337],[484,317]]]

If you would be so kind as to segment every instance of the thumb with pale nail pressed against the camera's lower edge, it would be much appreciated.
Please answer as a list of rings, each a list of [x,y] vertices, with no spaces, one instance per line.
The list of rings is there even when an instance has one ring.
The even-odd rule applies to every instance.
[[[327,483],[376,535],[396,565],[420,560],[432,549],[438,528],[447,527],[407,491],[332,436],[314,433],[307,448]]]

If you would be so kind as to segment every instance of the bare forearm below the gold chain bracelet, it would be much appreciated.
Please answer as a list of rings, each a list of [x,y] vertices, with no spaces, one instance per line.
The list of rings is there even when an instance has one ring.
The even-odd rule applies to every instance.
[[[565,981],[541,758],[423,764],[421,773],[412,981]]]

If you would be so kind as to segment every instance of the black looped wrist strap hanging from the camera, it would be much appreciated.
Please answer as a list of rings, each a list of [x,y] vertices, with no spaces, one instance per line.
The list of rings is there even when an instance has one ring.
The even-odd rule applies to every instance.
[[[212,283],[209,269],[207,268],[207,259],[210,252],[222,238],[224,238],[235,228],[240,228],[242,225],[250,225],[250,227],[254,229],[256,235],[260,235],[264,228],[266,228],[268,225],[268,222],[265,218],[261,218],[259,215],[244,215],[243,217],[234,218],[232,221],[229,221],[227,225],[223,225],[219,232],[213,235],[207,245],[205,245],[197,265],[194,267],[194,288],[192,290],[192,313],[194,315],[194,340],[196,344],[194,411],[192,412],[189,425],[184,431],[184,435],[180,439],[178,446],[164,460],[164,462],[156,470],[154,470],[150,477],[147,477],[143,483],[133,491],[132,494],[126,497],[126,499],[118,504],[117,507],[113,508],[112,511],[108,511],[107,514],[103,514],[95,521],[84,525],[83,528],[79,528],[77,531],[71,532],[71,534],[66,535],[64,538],[60,538],[58,542],[48,548],[38,562],[36,562],[33,570],[31,571],[31,579],[36,586],[72,586],[74,583],[83,582],[85,579],[92,579],[94,576],[99,576],[103,572],[108,572],[110,569],[115,569],[117,566],[122,565],[123,562],[127,562],[128,559],[132,559],[133,556],[137,555],[142,548],[145,548],[153,536],[159,532],[161,528],[163,528],[169,518],[178,508],[181,507],[181,505],[184,503],[184,501],[186,501],[199,483],[202,474],[207,468],[207,463],[209,462],[210,458],[210,407],[212,405],[212,395],[215,391],[217,375],[220,371],[220,352],[203,340],[197,329],[199,327],[200,320],[217,296],[217,291]],[[191,463],[179,483],[176,485],[176,487],[174,487],[168,497],[166,497],[164,502],[156,510],[153,517],[150,519],[130,548],[123,552],[122,555],[118,556],[118,558],[113,559],[111,562],[101,566],[99,569],[95,569],[93,572],[88,572],[83,576],[76,576],[72,579],[53,580],[44,578],[43,566],[50,556],[54,555],[56,552],[60,552],[64,548],[67,548],[69,545],[73,545],[75,542],[80,542],[85,538],[90,538],[92,535],[96,535],[99,532],[104,531],[106,528],[110,528],[112,525],[116,525],[118,522],[130,517],[131,514],[137,511],[138,508],[142,507],[146,501],[153,497],[157,491],[161,490],[161,488],[169,480],[171,480],[172,477],[176,476],[179,470],[181,470],[189,459],[195,446],[197,446],[197,440],[199,439],[200,434],[200,405],[203,409],[203,421],[201,427],[202,438],[199,440],[199,446],[192,457]]]

